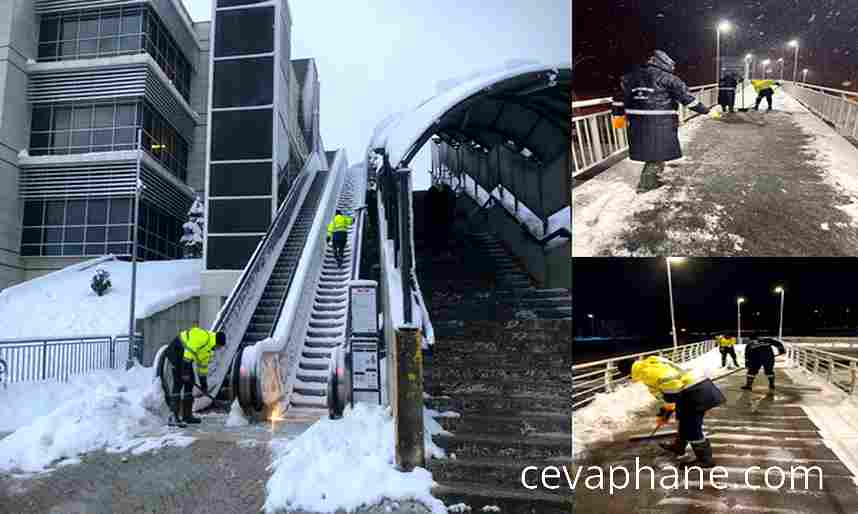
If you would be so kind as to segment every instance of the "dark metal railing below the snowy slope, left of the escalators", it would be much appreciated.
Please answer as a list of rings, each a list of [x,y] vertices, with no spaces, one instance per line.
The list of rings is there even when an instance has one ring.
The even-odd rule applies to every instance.
[[[131,348],[127,335],[0,340],[3,382],[66,381],[89,371],[124,369],[129,351],[140,361],[142,342],[139,334]]]

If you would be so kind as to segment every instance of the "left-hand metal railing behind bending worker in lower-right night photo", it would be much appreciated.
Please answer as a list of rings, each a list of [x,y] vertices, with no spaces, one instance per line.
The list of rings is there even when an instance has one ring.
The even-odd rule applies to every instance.
[[[617,366],[619,362],[635,361],[651,355],[658,355],[681,364],[696,359],[717,347],[718,343],[714,339],[708,339],[676,348],[670,347],[650,352],[621,355],[610,359],[574,365],[572,366],[572,410],[590,403],[598,393],[609,393],[629,383],[629,376],[624,375]]]

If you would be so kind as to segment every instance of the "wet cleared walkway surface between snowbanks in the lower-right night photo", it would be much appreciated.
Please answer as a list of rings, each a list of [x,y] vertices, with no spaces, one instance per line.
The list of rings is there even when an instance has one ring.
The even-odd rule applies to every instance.
[[[606,476],[611,465],[627,466],[635,470],[635,457],[641,466],[651,466],[656,471],[656,487],[649,484],[649,475],[644,473],[640,490],[631,487],[607,491],[588,490],[579,485],[575,491],[575,512],[601,512],[605,514],[710,514],[710,513],[760,513],[760,514],[816,514],[858,512],[858,485],[852,472],[827,446],[817,426],[808,418],[800,404],[813,404],[817,388],[794,383],[778,369],[776,394],[767,395],[765,377],[758,377],[754,391],[740,389],[744,383],[742,372],[718,381],[728,397],[725,405],[711,410],[706,416],[705,428],[713,446],[718,466],[726,468],[727,477],[716,476],[715,485],[727,486],[719,490],[707,475],[700,484],[697,473],[691,480],[682,481],[679,490],[659,487],[660,479],[668,474],[664,467],[676,461],[662,451],[654,441],[628,442],[631,433],[620,434],[613,442],[592,447],[592,451],[573,464],[573,473],[578,467],[595,465],[602,467]],[[641,413],[635,433],[654,426],[653,413]],[[689,454],[690,455],[690,454]],[[751,466],[763,470],[779,466],[785,472],[785,485],[781,489],[765,487],[764,471],[752,471],[746,484],[745,471]],[[805,475],[801,471],[791,472],[793,466],[819,466],[823,473],[822,489],[816,475],[805,487]],[[573,475],[574,476],[574,475]],[[581,484],[588,476],[586,468],[581,472]],[[632,475],[634,477],[634,475]],[[777,485],[781,477],[777,472],[770,475],[770,483]],[[795,486],[791,487],[791,479]],[[617,481],[622,483],[622,475]]]

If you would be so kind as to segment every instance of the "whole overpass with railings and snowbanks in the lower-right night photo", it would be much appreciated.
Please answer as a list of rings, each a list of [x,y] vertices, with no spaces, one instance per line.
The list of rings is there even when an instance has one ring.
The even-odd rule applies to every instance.
[[[580,470],[581,477],[573,493],[575,511],[858,511],[858,404],[853,403],[858,390],[858,342],[855,338],[789,337],[784,342],[787,355],[776,364],[774,392],[768,390],[759,375],[752,391],[740,389],[745,382],[744,368],[722,368],[712,373],[727,402],[707,413],[704,429],[712,442],[715,464],[723,472],[712,481],[709,475],[701,480],[697,471],[690,471],[687,478],[680,471],[676,487],[670,485],[670,476],[678,463],[657,445],[668,439],[646,437],[655,426],[651,405],[631,408],[630,419],[619,430],[608,422],[601,426],[593,422],[599,413],[592,412],[592,407],[607,408],[608,403],[628,403],[629,398],[637,398],[622,392],[629,382],[617,367],[621,361],[658,354],[685,363],[683,366],[694,366],[689,362],[695,359],[697,366],[707,359],[717,366],[720,362],[715,342],[574,365],[575,456],[570,476],[574,479]],[[742,351],[740,347],[740,362]],[[604,392],[614,394],[596,403],[596,395]],[[649,398],[648,393],[642,394]],[[585,412],[588,405],[591,411]],[[676,426],[671,423],[670,428]],[[634,436],[644,437],[632,441]],[[604,487],[585,485],[588,470],[592,472],[590,466],[604,470]],[[615,484],[622,488],[615,488],[613,494],[608,492],[611,466],[631,473],[630,482],[622,487],[623,473],[614,472]],[[645,471],[645,466],[653,471]],[[641,478],[636,482],[638,469],[644,471],[637,475]],[[655,480],[654,487],[650,477]]]

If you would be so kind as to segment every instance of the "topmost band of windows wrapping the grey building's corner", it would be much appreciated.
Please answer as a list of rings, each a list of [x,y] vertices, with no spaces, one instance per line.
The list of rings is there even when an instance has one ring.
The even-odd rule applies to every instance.
[[[190,100],[191,65],[151,8],[123,7],[44,15],[39,61],[89,59],[147,52]]]

